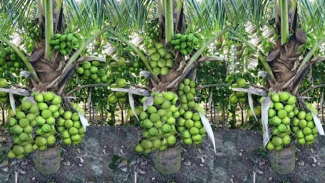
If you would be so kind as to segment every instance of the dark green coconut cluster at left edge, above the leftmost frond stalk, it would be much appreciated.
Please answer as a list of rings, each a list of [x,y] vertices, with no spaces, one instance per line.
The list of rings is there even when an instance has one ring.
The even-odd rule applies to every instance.
[[[24,53],[23,50],[20,50]],[[15,50],[9,46],[0,50],[0,75],[3,77],[3,73],[6,70],[10,72],[18,73],[22,68],[25,68],[25,64],[21,58],[16,54]]]

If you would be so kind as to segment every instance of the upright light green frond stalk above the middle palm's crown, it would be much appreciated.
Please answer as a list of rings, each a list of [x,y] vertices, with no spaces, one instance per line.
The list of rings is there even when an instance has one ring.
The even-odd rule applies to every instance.
[[[173,22],[173,0],[166,0],[165,2],[165,42],[172,41],[174,36],[174,22]]]

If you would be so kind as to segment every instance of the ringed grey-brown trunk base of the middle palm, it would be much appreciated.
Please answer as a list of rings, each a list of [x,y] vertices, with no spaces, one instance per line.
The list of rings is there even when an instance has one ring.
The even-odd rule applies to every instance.
[[[163,174],[174,174],[181,168],[181,152],[179,147],[167,148],[164,151],[158,151],[153,158],[153,165]]]

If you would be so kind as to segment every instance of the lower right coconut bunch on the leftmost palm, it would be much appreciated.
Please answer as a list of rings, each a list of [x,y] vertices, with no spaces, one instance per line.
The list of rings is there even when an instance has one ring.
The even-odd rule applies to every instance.
[[[62,109],[60,111],[59,119],[56,123],[56,130],[65,145],[78,145],[85,135],[85,128],[81,124],[77,111],[85,115],[85,110],[76,103],[72,103],[72,110]]]

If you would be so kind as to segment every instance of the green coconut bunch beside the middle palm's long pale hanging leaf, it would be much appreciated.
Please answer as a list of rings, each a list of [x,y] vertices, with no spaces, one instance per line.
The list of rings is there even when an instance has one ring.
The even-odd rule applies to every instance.
[[[202,143],[206,130],[202,124],[198,112],[184,111],[182,117],[177,120],[177,132],[181,134],[183,142],[187,145]]]

